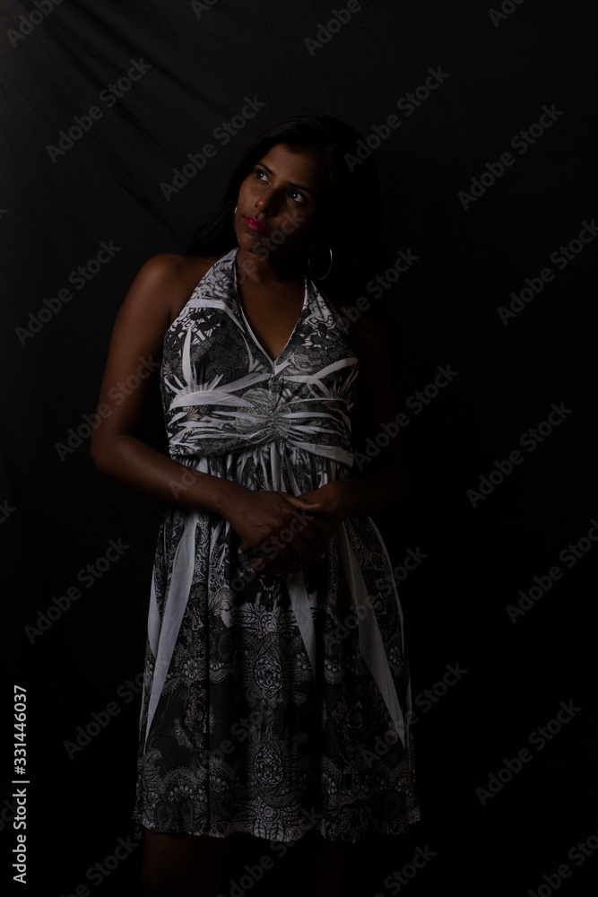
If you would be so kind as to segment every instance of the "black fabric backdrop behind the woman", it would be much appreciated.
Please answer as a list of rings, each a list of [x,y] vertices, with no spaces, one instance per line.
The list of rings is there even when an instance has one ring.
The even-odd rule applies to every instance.
[[[422,822],[347,851],[343,893],[590,893],[594,24],[590,0],[3,4],[3,885],[25,832],[29,893],[136,893],[135,680],[161,506],[92,466],[86,415],[139,267],[183,251],[258,133],[315,111],[368,138],[390,245],[412,259],[393,287],[410,491],[377,522]],[[435,388],[440,369],[456,373]],[[157,394],[146,438],[165,446]],[[241,848],[222,893],[272,854]],[[272,855],[246,893],[292,874],[292,850]]]

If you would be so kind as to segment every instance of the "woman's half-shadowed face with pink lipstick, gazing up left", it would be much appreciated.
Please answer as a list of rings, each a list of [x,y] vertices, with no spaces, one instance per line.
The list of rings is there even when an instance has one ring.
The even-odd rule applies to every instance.
[[[315,235],[322,189],[313,152],[308,148],[290,152],[284,144],[275,144],[256,162],[238,191],[239,247],[264,259],[307,252]]]

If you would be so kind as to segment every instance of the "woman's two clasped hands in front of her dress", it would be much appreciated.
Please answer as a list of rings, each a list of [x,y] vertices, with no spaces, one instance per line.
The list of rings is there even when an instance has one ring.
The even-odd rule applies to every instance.
[[[325,558],[325,546],[342,523],[336,481],[303,495],[247,490],[229,514],[231,526],[245,541],[238,549],[256,550],[251,570],[265,576],[295,576]]]

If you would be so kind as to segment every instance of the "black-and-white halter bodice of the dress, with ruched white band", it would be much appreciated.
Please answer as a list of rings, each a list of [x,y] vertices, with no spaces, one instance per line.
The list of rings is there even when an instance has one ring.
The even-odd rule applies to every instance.
[[[164,336],[160,389],[171,456],[279,442],[351,467],[359,361],[345,323],[306,274],[299,319],[273,361],[241,307],[237,251],[210,268]]]

